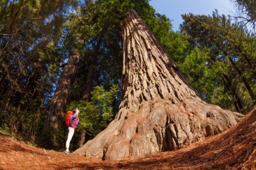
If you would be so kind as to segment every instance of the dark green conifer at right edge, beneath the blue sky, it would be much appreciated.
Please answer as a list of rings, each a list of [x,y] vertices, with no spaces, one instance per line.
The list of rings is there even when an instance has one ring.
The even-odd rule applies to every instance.
[[[209,48],[208,67],[222,69],[217,83],[229,91],[237,111],[251,109],[255,104],[255,78],[251,77],[255,77],[256,62],[254,49],[249,47],[255,43],[253,35],[217,12],[212,16],[184,14],[183,18],[181,28],[190,36],[190,43],[200,49]],[[241,92],[241,88],[247,91]]]

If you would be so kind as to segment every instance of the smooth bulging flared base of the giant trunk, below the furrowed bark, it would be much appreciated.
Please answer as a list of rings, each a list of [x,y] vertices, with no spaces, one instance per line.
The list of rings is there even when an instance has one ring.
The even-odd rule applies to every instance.
[[[136,112],[122,112],[74,153],[103,160],[149,157],[218,134],[241,117],[240,113],[205,102],[173,104],[163,99],[145,102]]]

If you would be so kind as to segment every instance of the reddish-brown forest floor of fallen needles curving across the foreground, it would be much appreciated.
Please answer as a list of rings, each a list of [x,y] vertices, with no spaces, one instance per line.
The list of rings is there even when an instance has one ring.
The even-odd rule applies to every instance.
[[[0,135],[0,169],[256,169],[256,108],[229,130],[144,159],[103,161]]]

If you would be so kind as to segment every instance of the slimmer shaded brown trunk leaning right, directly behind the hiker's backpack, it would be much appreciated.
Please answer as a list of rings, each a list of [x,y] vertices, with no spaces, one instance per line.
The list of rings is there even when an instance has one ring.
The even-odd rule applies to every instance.
[[[58,132],[61,132],[61,130],[63,130],[63,109],[66,105],[70,82],[75,71],[75,64],[78,60],[78,57],[79,55],[77,53],[70,55],[60,75],[43,130],[43,137],[50,140],[50,143],[48,141],[45,147],[58,146],[56,142],[56,136]]]

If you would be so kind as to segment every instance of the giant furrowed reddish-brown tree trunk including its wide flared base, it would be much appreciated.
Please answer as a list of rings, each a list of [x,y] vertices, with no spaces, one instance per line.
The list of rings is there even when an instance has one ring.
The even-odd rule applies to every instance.
[[[122,101],[115,119],[74,151],[107,160],[178,149],[235,125],[242,114],[207,104],[130,10],[121,24]]]

